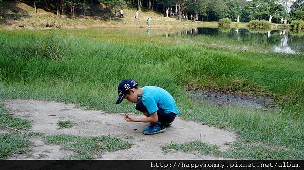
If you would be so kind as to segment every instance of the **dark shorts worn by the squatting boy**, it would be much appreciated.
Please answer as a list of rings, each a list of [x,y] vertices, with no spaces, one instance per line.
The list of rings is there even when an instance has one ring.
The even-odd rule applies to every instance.
[[[135,109],[143,113],[148,113],[147,108],[143,105],[141,101],[141,98],[138,98]],[[157,112],[158,122],[160,122],[161,124],[173,122],[176,116],[175,113],[165,113],[165,111],[162,108],[159,108],[156,112]]]

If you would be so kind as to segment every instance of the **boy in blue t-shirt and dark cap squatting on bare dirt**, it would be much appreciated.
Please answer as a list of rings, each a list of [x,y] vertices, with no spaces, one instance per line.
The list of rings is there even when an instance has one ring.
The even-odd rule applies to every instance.
[[[126,121],[151,123],[143,129],[146,135],[158,134],[166,131],[166,126],[171,125],[175,116],[179,114],[173,97],[164,89],[156,86],[138,87],[133,79],[122,80],[118,86],[119,104],[125,98],[136,103],[135,109],[142,112],[145,118],[135,118],[125,115]]]

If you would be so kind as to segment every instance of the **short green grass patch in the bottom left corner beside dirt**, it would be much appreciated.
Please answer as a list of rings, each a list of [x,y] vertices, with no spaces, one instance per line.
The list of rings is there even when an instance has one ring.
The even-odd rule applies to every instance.
[[[0,135],[0,159],[30,152],[31,149],[29,147],[33,146],[33,143],[29,139],[36,136],[42,136],[42,134],[16,132]]]

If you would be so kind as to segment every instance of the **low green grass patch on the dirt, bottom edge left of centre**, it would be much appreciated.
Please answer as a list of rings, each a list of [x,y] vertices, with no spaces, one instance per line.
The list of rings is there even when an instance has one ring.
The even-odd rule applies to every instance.
[[[51,135],[45,136],[45,143],[62,145],[65,150],[72,150],[77,155],[72,155],[68,159],[92,159],[94,154],[101,151],[117,151],[131,147],[131,143],[111,136],[88,136],[79,137],[74,135]]]

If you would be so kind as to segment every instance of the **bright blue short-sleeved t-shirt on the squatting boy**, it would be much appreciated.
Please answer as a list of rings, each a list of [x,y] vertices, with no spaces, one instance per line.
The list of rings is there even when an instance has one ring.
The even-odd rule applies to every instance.
[[[145,86],[142,92],[142,103],[147,108],[149,114],[162,108],[165,113],[179,114],[175,101],[169,92],[156,86]]]

